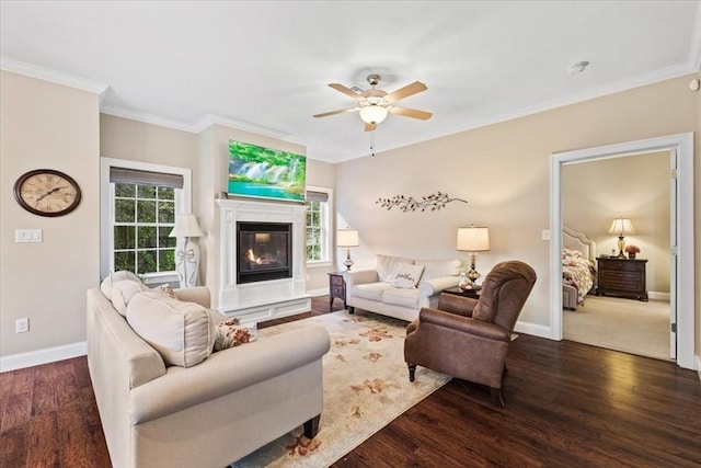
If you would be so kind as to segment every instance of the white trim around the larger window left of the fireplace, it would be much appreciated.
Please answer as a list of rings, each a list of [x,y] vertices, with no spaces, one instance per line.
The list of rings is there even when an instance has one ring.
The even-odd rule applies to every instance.
[[[175,191],[175,206],[177,213],[192,213],[192,170],[174,165],[152,164],[149,162],[130,161],[128,159],[100,158],[100,276],[106,277],[114,270],[114,259],[111,246],[114,243],[112,219],[113,207],[110,201],[114,195],[114,186],[110,183],[111,168],[126,168],[138,171],[162,172],[183,176],[183,189]],[[175,215],[177,215],[177,213]],[[177,282],[177,273],[154,273],[149,277],[158,282]]]

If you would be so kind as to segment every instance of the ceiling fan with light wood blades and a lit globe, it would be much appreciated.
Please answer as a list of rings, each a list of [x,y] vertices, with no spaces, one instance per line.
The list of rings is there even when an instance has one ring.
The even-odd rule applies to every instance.
[[[404,88],[400,88],[397,91],[388,93],[387,91],[375,88],[380,82],[379,75],[368,75],[367,79],[371,88],[361,92],[356,92],[340,83],[329,83],[329,87],[356,100],[358,105],[352,109],[324,112],[322,114],[314,115],[314,117],[327,117],[330,115],[358,111],[360,118],[365,122],[365,132],[372,132],[377,128],[377,124],[387,118],[388,113],[402,115],[404,117],[418,118],[422,121],[427,121],[433,115],[430,112],[397,107],[394,105],[399,100],[426,91],[428,88],[426,88],[426,84],[421,81],[414,81]]]

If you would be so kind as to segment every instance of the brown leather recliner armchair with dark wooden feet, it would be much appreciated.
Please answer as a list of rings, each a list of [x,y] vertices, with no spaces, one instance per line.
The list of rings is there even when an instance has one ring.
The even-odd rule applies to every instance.
[[[512,331],[535,283],[536,272],[526,263],[502,262],[484,278],[480,299],[444,293],[438,309],[422,308],[406,328],[409,379],[424,366],[489,386],[494,403],[503,407]]]

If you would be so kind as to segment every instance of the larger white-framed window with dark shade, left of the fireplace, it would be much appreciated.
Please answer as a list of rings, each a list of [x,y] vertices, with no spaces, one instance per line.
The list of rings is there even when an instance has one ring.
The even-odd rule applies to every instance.
[[[175,281],[176,213],[188,213],[189,170],[103,158],[101,273]],[[187,180],[187,182],[186,182]],[[187,191],[187,193],[185,193]]]

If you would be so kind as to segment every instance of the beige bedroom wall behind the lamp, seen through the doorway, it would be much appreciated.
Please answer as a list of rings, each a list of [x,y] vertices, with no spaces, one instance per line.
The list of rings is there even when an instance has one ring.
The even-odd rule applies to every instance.
[[[565,164],[562,168],[563,225],[597,242],[597,254],[618,253],[608,233],[613,218],[630,218],[635,235],[627,244],[647,259],[647,290],[669,293],[670,155],[655,152]]]

